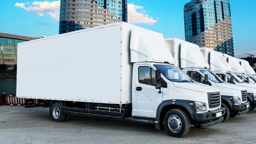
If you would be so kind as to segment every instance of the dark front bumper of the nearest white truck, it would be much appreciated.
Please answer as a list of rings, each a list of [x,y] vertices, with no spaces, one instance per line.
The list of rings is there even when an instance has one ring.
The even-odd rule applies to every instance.
[[[216,117],[216,113],[221,112],[220,117]],[[200,125],[200,128],[207,128],[218,123],[221,123],[224,118],[225,108],[220,108],[219,110],[214,110],[206,113],[194,113],[195,122]]]

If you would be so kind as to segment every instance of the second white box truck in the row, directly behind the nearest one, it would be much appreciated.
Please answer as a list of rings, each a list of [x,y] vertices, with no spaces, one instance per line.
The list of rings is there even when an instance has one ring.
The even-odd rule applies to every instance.
[[[204,57],[198,45],[178,38],[168,38],[166,44],[174,57],[176,66],[179,66],[191,79],[220,90],[221,107],[226,110],[224,121],[228,120],[228,117],[235,117],[249,111],[246,89],[223,82],[218,75],[209,70],[210,66],[206,60],[208,58]],[[205,55],[208,54],[205,53]],[[215,95],[212,98],[213,102]],[[215,103],[211,106],[214,107]]]

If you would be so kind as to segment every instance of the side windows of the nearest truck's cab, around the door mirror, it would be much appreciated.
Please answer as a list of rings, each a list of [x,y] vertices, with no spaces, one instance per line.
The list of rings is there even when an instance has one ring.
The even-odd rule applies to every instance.
[[[138,68],[138,82],[156,86],[156,71],[148,66],[140,66]],[[161,85],[163,88],[167,88],[167,83],[161,78]]]

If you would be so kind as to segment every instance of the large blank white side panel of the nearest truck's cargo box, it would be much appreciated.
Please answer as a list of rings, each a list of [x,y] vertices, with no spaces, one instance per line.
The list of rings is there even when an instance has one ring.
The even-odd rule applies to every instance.
[[[121,23],[103,27],[20,44],[17,96],[121,103]]]

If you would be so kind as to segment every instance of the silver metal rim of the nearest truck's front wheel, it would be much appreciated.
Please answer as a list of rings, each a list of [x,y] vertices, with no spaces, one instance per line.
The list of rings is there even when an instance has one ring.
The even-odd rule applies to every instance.
[[[168,127],[173,133],[178,133],[181,130],[182,123],[180,117],[176,115],[171,115],[168,118]]]

